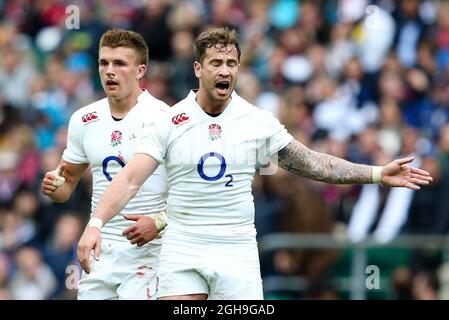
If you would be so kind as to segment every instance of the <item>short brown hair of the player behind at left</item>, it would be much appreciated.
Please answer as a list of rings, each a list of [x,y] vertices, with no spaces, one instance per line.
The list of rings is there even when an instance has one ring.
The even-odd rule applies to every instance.
[[[148,46],[137,32],[118,28],[111,29],[101,36],[99,47],[134,49],[137,53],[138,63],[148,65]]]

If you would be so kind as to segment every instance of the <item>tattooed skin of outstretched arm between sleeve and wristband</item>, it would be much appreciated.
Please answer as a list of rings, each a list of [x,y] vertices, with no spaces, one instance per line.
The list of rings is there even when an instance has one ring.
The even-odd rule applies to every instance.
[[[278,153],[278,165],[292,173],[334,184],[372,182],[372,167],[315,152],[293,140]]]

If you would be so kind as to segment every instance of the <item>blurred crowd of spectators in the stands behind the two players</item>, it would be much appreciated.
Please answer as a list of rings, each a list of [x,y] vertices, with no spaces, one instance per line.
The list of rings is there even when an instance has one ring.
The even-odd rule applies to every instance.
[[[76,297],[67,280],[77,275],[67,267],[77,266],[91,177],[64,204],[39,187],[59,162],[70,115],[104,97],[102,33],[143,35],[150,66],[142,86],[173,105],[197,87],[196,35],[223,25],[240,34],[238,93],[297,140],[373,165],[414,155],[413,165],[434,177],[415,192],[326,185],[283,170],[256,176],[259,237],[325,233],[388,243],[402,233],[449,231],[448,1],[0,0],[0,299]],[[279,250],[263,257],[262,273],[303,276],[303,297],[338,297],[326,296],[323,281],[340,257]],[[441,298],[444,259],[413,257],[392,274],[391,298]]]

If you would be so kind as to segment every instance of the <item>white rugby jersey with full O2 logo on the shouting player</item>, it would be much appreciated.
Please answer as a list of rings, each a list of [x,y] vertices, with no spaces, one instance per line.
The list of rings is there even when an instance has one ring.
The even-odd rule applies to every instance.
[[[168,228],[210,241],[255,241],[257,160],[266,163],[293,138],[271,113],[236,93],[217,117],[195,99],[191,91],[163,120],[150,122],[136,149],[165,165]]]

